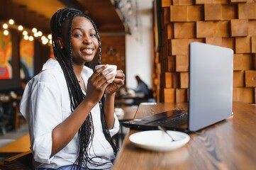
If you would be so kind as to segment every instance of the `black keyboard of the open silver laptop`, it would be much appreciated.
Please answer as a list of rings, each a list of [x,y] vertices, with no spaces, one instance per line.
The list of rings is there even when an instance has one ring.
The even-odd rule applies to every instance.
[[[181,113],[175,117],[172,118],[167,118],[164,120],[157,120],[155,121],[154,125],[162,125],[162,126],[168,126],[168,125],[172,125],[172,126],[180,126],[180,125],[184,125],[187,124],[187,113]]]

